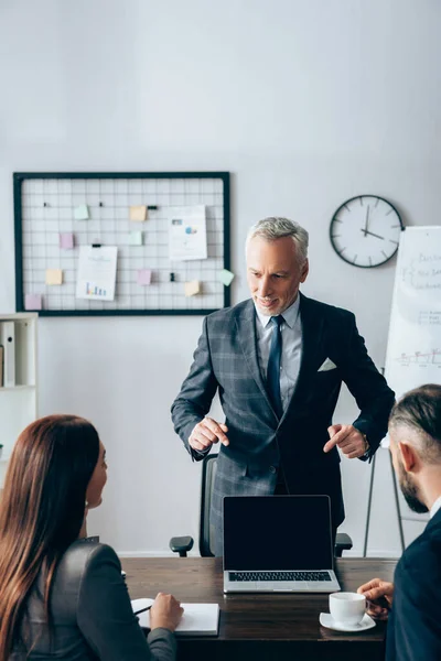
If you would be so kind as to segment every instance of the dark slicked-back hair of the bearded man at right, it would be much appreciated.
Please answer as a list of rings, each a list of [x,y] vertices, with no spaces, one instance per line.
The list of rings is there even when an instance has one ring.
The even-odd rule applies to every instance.
[[[417,447],[428,464],[441,462],[441,386],[428,383],[407,392],[395,404],[389,429],[405,426],[416,433]]]

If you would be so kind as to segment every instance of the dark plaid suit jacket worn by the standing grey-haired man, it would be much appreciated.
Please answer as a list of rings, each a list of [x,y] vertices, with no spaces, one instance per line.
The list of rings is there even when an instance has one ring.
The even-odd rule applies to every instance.
[[[367,435],[370,454],[387,431],[394,392],[367,355],[351,312],[301,295],[302,359],[292,399],[279,420],[260,373],[256,311],[251,300],[204,319],[194,361],[172,405],[175,431],[194,459],[189,437],[218,390],[228,426],[213,488],[211,523],[222,553],[224,496],[275,492],[279,466],[290,494],[326,494],[333,524],[344,519],[340,455],[323,453],[342,381],[361,414],[354,425]],[[320,371],[330,358],[337,367]]]

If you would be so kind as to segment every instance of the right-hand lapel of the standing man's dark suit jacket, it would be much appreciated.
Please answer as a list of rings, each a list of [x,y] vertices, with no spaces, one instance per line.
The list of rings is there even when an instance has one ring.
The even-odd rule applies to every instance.
[[[291,407],[299,408],[302,398],[308,395],[310,381],[320,367],[322,359],[323,317],[318,317],[313,302],[303,294],[300,294],[300,319],[302,324],[302,357],[299,378],[282,420]]]

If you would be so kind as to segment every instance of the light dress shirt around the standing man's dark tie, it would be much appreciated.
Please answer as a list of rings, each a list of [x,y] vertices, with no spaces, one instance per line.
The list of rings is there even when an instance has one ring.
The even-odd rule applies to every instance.
[[[260,372],[267,378],[268,358],[271,346],[271,336],[275,328],[270,324],[271,317],[262,314],[256,306],[257,353]],[[283,411],[286,411],[294,392],[300,372],[302,357],[302,324],[300,318],[300,296],[281,315],[283,323],[280,326],[282,334],[282,355],[280,361],[280,394]]]

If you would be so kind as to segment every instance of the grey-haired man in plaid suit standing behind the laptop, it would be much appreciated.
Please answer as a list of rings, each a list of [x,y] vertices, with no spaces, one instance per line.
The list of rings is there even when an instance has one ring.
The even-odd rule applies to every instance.
[[[394,393],[367,355],[352,313],[299,293],[308,232],[267,218],[247,238],[251,299],[204,319],[194,361],[172,405],[193,459],[220,442],[211,523],[222,554],[224,496],[327,494],[334,532],[344,519],[340,455],[369,458]],[[361,414],[332,424],[342,381]],[[207,418],[218,391],[225,424]]]

